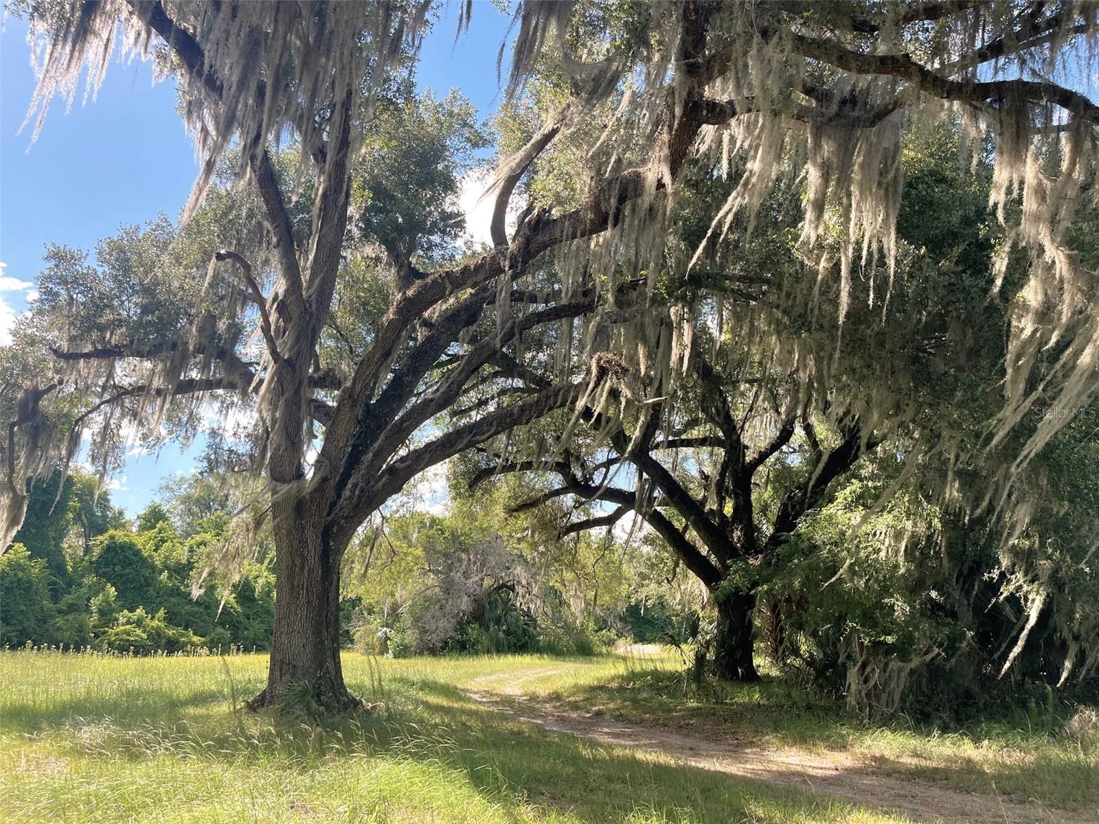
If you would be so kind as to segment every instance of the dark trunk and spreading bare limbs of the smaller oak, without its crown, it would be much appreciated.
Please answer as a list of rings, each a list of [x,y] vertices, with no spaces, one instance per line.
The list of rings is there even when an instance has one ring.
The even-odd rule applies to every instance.
[[[567,519],[560,525],[560,537],[612,528],[623,520],[633,533],[637,526],[631,525],[630,519],[636,513],[709,591],[718,615],[713,650],[718,675],[754,681],[758,679],[753,660],[754,567],[781,546],[800,517],[820,505],[829,485],[872,447],[864,443],[868,433],[852,420],[841,430],[834,449],[825,452],[819,443],[813,449],[806,444],[804,455],[800,455],[790,443],[795,415],[782,421],[777,432],[753,443],[745,434],[745,424],[751,427],[758,424],[761,416],[782,410],[747,409],[734,414],[713,370],[701,359],[693,367],[704,376],[702,381],[709,381],[710,403],[700,412],[704,423],[677,420],[665,430],[653,416],[631,431],[626,425],[606,427],[600,415],[588,411],[584,416],[595,426],[607,428],[602,434],[609,442],[608,448],[591,459],[585,460],[578,449],[569,449],[548,465],[493,461],[480,477],[523,470],[556,474],[557,481],[551,489],[520,502],[515,511],[564,495],[576,501],[574,511],[582,511],[592,502],[604,504],[601,512]],[[759,383],[767,379],[751,376],[745,380]],[[815,439],[808,419],[800,426],[808,438]],[[797,459],[802,471],[788,479],[789,488],[776,511],[757,512],[763,509],[757,500],[759,486],[775,469],[770,466],[773,458],[779,464]],[[628,467],[625,471],[623,467]]]

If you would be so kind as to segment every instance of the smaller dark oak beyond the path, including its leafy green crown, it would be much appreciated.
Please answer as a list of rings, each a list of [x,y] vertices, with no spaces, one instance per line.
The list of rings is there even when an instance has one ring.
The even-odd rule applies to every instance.
[[[798,188],[781,187],[753,235],[737,235],[713,261],[722,287],[663,286],[701,303],[678,398],[618,416],[585,409],[591,435],[574,436],[552,461],[482,448],[470,482],[555,476],[515,510],[573,501],[562,536],[625,528],[636,516],[710,592],[717,671],[755,680],[757,590],[779,571],[780,550],[806,516],[884,442],[903,456],[898,472],[942,475],[942,466],[922,463],[924,445],[945,442],[963,423],[980,432],[998,405],[1007,302],[974,300],[993,279],[987,175],[962,175],[950,162],[943,168],[939,156],[956,151],[954,137],[932,134],[906,151],[910,190],[888,304],[870,304],[870,276],[853,286],[842,323],[835,301],[803,305],[797,286],[814,272],[793,248]],[[692,196],[673,220],[681,238],[699,231],[699,213],[728,187],[715,186],[704,164],[693,164],[680,186]],[[922,219],[929,212],[934,226]],[[668,411],[654,414],[657,405]]]

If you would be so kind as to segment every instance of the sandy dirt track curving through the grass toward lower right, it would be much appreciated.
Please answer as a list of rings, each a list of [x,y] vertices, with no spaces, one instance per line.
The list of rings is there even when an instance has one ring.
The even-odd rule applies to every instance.
[[[975,824],[1099,824],[1099,814],[1021,803],[1000,795],[966,792],[875,772],[842,751],[813,753],[793,747],[762,748],[717,741],[659,726],[623,723],[586,715],[574,709],[540,702],[523,686],[559,668],[475,679],[466,694],[482,706],[545,730],[603,744],[657,753],[731,777],[800,788],[863,808],[896,812],[920,822]]]

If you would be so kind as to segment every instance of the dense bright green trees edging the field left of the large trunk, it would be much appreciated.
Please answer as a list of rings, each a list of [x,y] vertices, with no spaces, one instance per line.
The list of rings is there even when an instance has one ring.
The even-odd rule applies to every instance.
[[[231,582],[203,575],[230,517],[215,481],[169,481],[163,502],[131,521],[109,492],[96,494],[93,476],[60,477],[35,487],[0,557],[0,643],[135,654],[269,647],[269,550]]]

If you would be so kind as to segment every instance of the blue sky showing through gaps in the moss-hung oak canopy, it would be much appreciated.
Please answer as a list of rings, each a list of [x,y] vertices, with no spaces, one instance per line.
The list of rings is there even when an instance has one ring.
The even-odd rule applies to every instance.
[[[509,20],[487,0],[475,3],[470,30],[455,43],[456,9],[447,4],[421,52],[423,89],[458,88],[482,114],[499,102],[496,58]],[[115,63],[98,98],[71,111],[55,100],[38,138],[20,133],[34,91],[26,25],[13,18],[0,34],[0,342],[26,311],[47,243],[91,249],[120,225],[158,212],[175,216],[197,174],[195,149],[176,114],[175,88],[154,86],[152,66]],[[7,324],[7,325],[5,325]],[[189,472],[198,447],[168,445],[131,456],[112,483],[112,501],[134,514],[169,475]]]

